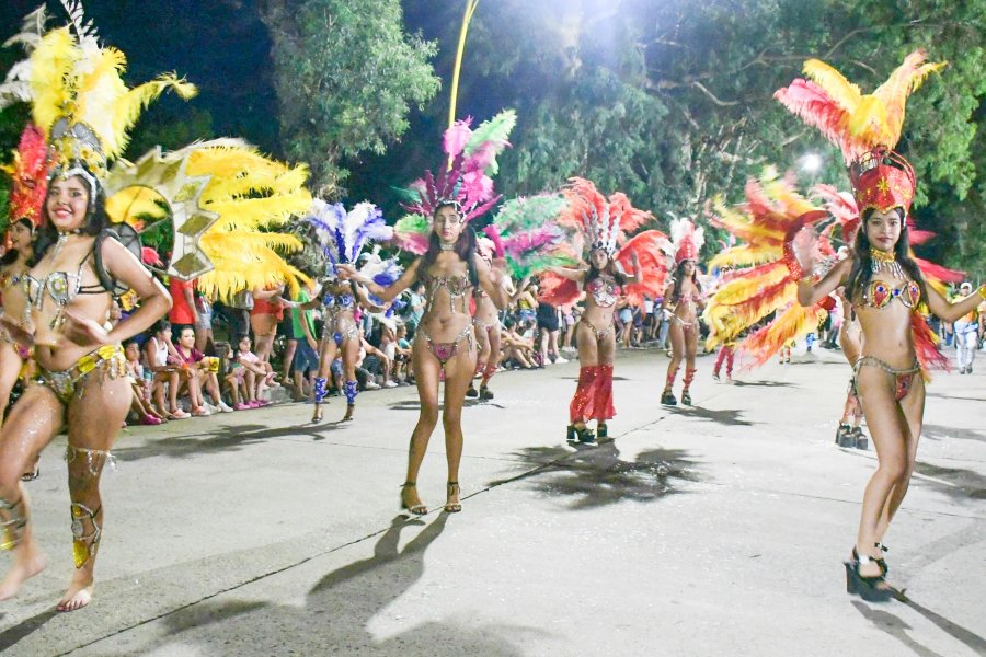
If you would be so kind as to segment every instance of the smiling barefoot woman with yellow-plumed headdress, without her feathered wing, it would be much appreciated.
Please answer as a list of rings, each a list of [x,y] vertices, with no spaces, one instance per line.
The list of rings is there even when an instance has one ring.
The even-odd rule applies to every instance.
[[[95,82],[96,76],[106,76],[104,79],[118,82],[110,95],[118,103],[116,108],[137,112],[133,102],[127,102],[130,90],[119,81],[117,69],[93,71],[76,66],[91,66],[94,60],[88,57],[98,61],[115,53],[85,51],[69,30],[62,28],[46,35],[32,55],[32,82],[67,90],[68,97],[54,97],[58,94],[53,92],[44,102],[44,96],[35,96],[33,118],[48,130],[53,162],[44,206],[46,223],[39,230],[31,269],[4,293],[5,335],[20,344],[34,344],[42,384],[28,388],[18,400],[0,438],[0,521],[3,548],[12,550],[14,557],[0,584],[0,599],[16,593],[24,580],[45,567],[19,479],[28,460],[68,425],[66,460],[76,572],[58,602],[59,611],[79,609],[92,596],[104,517],[100,474],[112,462],[110,449],[133,396],[121,343],[148,328],[171,304],[163,286],[104,230],[108,221],[101,177],[106,175],[106,158],[118,155],[123,149],[123,130],[133,116],[114,124],[111,122],[116,116],[87,114],[93,112],[92,104],[72,97],[76,90]],[[54,83],[56,79],[58,84]],[[169,85],[191,91],[176,80]],[[144,90],[146,100],[167,87],[154,84]],[[110,107],[114,105],[98,106],[94,112],[110,112]],[[100,128],[105,131],[98,134]],[[106,331],[113,281],[135,290],[141,303],[129,318]],[[100,422],[84,419],[92,417],[100,417]]]

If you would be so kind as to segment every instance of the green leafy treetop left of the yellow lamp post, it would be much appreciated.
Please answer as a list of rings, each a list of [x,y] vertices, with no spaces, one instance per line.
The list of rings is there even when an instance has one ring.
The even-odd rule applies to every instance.
[[[342,158],[382,153],[408,129],[411,106],[439,87],[433,43],[403,30],[399,0],[272,0],[280,137],[287,155],[334,188]]]

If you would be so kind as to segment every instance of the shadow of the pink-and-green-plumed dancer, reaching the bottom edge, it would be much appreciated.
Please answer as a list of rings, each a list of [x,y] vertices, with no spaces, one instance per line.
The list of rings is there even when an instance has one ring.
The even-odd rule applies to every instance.
[[[303,607],[245,600],[207,601],[172,613],[164,619],[168,642],[188,646],[205,635],[203,650],[237,655],[333,650],[346,655],[426,654],[419,650],[491,657],[521,655],[507,635],[518,637],[535,630],[432,621],[383,641],[370,633],[370,621],[421,579],[425,551],[445,530],[448,518],[447,514],[440,514],[400,550],[401,531],[424,522],[397,516],[377,540],[371,557],[326,574],[308,591]],[[183,636],[192,631],[197,632]],[[154,647],[167,650],[168,644]]]

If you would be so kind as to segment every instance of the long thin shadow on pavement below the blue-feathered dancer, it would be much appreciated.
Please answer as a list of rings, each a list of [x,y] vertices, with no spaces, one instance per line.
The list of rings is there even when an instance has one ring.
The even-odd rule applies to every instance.
[[[203,453],[237,451],[254,442],[263,442],[271,438],[298,436],[310,437],[312,440],[324,440],[324,433],[336,430],[339,428],[336,424],[331,420],[322,420],[318,425],[301,424],[288,427],[267,427],[265,425],[228,426],[206,434],[158,438],[140,447],[114,449],[113,453],[121,461],[137,461],[162,456],[171,457],[172,459],[184,459]]]

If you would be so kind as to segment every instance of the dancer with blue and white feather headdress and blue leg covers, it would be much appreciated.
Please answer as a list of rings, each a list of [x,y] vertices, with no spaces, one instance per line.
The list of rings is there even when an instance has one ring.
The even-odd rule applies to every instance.
[[[319,371],[312,391],[314,412],[311,422],[322,420],[322,403],[329,394],[329,371],[336,355],[342,357],[345,377],[343,392],[346,395],[346,414],[343,422],[347,422],[353,419],[356,410],[356,361],[363,337],[356,322],[356,307],[376,309],[377,306],[364,286],[352,279],[341,279],[339,267],[356,264],[367,243],[389,240],[393,235],[393,229],[387,226],[382,212],[371,203],[357,204],[346,212],[341,203],[329,205],[317,198],[305,219],[314,228],[329,261],[320,298],[301,306],[302,310],[321,306],[325,312],[319,341]],[[389,265],[380,275],[372,277],[375,283],[386,286],[397,280],[401,270],[392,262]]]

